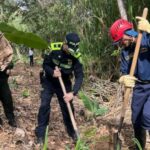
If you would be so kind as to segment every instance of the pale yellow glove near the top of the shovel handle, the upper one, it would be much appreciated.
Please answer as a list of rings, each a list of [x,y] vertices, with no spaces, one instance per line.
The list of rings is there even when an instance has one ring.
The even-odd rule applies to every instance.
[[[139,20],[138,22],[138,29],[141,31],[145,31],[147,33],[150,33],[150,24],[147,19],[143,17],[136,17],[136,19]]]

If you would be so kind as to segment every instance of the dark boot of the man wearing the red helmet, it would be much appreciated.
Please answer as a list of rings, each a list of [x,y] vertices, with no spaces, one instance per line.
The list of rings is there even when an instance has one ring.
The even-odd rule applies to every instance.
[[[141,127],[134,127],[135,138],[139,141],[142,150],[145,150],[146,145],[146,130]],[[136,145],[136,150],[140,150]]]

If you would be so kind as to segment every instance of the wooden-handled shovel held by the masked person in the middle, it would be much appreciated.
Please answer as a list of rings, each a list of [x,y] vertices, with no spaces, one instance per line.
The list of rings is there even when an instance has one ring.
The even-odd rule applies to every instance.
[[[58,67],[57,67],[58,68]],[[62,91],[64,93],[64,95],[67,93],[66,92],[66,88],[65,88],[65,85],[64,85],[64,82],[62,80],[62,77],[58,77],[59,79],[59,82],[60,82],[60,85],[61,85],[61,88],[62,88]],[[75,134],[77,136],[77,139],[80,138],[80,135],[79,135],[79,131],[78,131],[78,128],[77,128],[77,125],[76,125],[76,121],[75,121],[75,118],[74,118],[74,115],[73,115],[73,112],[72,112],[72,109],[71,109],[71,106],[70,106],[70,103],[67,102],[67,108],[68,108],[68,111],[69,111],[69,115],[70,115],[70,119],[71,119],[71,122],[72,122],[72,125],[73,125],[73,129],[75,131]]]

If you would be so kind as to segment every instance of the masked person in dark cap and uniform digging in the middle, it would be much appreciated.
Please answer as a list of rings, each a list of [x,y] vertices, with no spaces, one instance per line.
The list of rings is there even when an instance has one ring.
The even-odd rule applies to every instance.
[[[71,104],[72,111],[73,97],[77,95],[81,84],[83,82],[83,68],[80,62],[81,54],[79,53],[80,38],[76,33],[69,33],[66,35],[66,40],[60,50],[53,50],[45,57],[43,69],[45,71],[45,78],[42,83],[43,90],[41,91],[41,105],[38,113],[38,126],[35,133],[38,143],[44,142],[45,130],[49,123],[50,116],[50,102],[54,93],[56,93],[59,105],[62,111],[64,124],[68,135],[75,141],[77,139],[66,102]],[[56,68],[56,66],[59,67]],[[72,88],[71,78],[75,76],[75,83]],[[63,95],[58,77],[62,77],[67,94]]]

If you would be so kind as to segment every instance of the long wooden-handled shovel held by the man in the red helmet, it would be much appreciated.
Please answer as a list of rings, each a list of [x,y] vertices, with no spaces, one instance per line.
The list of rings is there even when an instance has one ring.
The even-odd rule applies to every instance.
[[[142,17],[146,18],[147,13],[148,13],[148,8],[144,8]],[[139,31],[136,46],[135,46],[135,51],[134,51],[134,55],[133,55],[132,65],[131,65],[131,69],[130,69],[130,73],[129,73],[129,75],[131,75],[131,76],[134,76],[137,59],[138,59],[138,55],[139,55],[139,50],[140,50],[140,45],[141,45],[141,40],[142,40],[142,31]],[[131,92],[131,88],[126,88],[125,94],[124,94],[124,100],[123,100],[123,104],[122,104],[121,118],[120,118],[118,131],[115,132],[113,135],[114,150],[121,150],[121,139],[119,138],[119,134],[120,134],[122,126],[123,126],[123,121],[124,121],[124,117],[125,117],[125,113],[126,113],[126,108],[128,105],[130,92]]]

